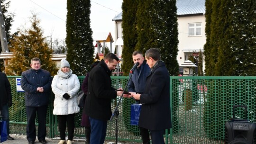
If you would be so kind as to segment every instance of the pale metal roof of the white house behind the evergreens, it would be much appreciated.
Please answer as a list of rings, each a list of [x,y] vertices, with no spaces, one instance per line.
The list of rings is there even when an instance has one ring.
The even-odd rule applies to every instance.
[[[177,15],[197,15],[205,14],[205,0],[177,0]],[[120,12],[112,20],[122,20],[122,13]]]

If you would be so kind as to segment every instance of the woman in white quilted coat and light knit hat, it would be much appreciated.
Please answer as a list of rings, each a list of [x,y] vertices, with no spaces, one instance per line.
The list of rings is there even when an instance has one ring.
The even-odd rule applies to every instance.
[[[66,123],[68,129],[67,144],[72,144],[74,135],[74,117],[75,113],[80,111],[77,104],[77,92],[80,88],[80,82],[75,74],[72,74],[69,63],[61,60],[61,68],[54,76],[52,90],[55,94],[53,114],[57,115],[60,131],[59,144],[65,144]]]

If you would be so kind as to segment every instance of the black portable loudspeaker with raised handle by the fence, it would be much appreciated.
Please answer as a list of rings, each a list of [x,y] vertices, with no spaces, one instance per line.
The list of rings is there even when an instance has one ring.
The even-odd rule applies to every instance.
[[[244,108],[246,119],[236,119],[235,108]],[[225,123],[225,144],[256,144],[256,124],[247,120],[247,106],[233,106],[233,118]]]

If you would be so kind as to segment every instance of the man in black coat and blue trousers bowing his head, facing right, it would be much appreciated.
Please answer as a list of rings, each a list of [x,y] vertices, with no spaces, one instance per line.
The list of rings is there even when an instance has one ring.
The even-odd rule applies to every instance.
[[[118,57],[109,53],[90,72],[85,99],[85,114],[89,116],[91,123],[90,144],[104,144],[107,122],[112,115],[111,99],[116,99],[123,93],[111,87],[111,71],[116,68],[118,63]],[[123,96],[127,97],[128,95],[124,94]]]

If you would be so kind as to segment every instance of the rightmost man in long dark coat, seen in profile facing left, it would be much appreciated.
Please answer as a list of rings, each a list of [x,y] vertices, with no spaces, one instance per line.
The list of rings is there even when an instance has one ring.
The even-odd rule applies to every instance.
[[[142,104],[138,126],[150,130],[152,144],[165,144],[164,130],[172,127],[170,76],[165,63],[160,61],[158,49],[150,48],[145,57],[151,72],[146,78],[144,93],[132,94]]]

